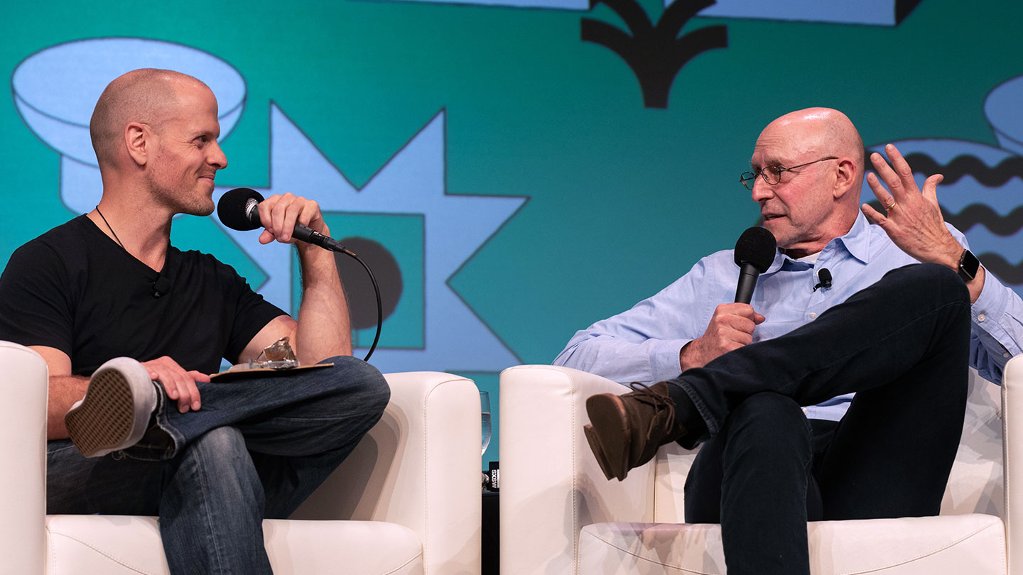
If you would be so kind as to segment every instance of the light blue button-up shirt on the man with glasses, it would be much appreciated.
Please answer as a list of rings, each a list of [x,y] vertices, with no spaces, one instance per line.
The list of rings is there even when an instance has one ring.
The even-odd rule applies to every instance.
[[[967,247],[963,234],[948,228]],[[753,330],[753,341],[776,338],[813,321],[889,270],[913,263],[919,262],[862,214],[849,233],[832,239],[820,251],[814,263],[793,260],[779,252],[760,275],[750,302],[766,318]],[[819,281],[817,270],[822,268],[831,271],[832,286],[814,291]],[[680,371],[678,353],[682,346],[703,336],[719,304],[735,301],[738,281],[739,266],[732,251],[711,254],[652,298],[577,331],[554,364],[622,384],[675,378]],[[1023,300],[988,272],[973,304],[970,336],[970,364],[981,377],[1000,384],[1006,362],[1023,351],[1021,319]],[[849,394],[807,407],[807,416],[839,419],[851,400]]]

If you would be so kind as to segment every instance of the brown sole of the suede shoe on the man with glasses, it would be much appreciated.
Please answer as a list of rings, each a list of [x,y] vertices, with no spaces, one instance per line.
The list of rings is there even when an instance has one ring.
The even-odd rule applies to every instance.
[[[586,399],[586,413],[590,425],[583,426],[583,432],[596,463],[609,481],[624,480],[629,473],[632,433],[621,398],[610,393],[591,396]]]

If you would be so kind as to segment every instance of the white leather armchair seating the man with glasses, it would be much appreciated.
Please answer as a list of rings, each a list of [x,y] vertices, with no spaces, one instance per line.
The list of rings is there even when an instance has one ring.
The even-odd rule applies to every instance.
[[[1023,575],[1023,520],[1012,520],[1023,501],[1010,490],[1012,477],[1023,478],[1023,454],[1017,447],[1013,457],[1003,441],[1023,441],[1023,359],[1010,360],[1004,384],[999,390],[971,370],[940,516],[812,522],[811,571]],[[601,473],[582,433],[584,402],[625,391],[551,365],[501,373],[501,575],[725,573],[720,526],[683,523],[682,486],[695,452],[666,445],[623,482]]]

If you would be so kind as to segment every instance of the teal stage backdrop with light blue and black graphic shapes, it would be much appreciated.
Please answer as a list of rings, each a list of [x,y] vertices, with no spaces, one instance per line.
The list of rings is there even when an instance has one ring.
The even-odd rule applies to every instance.
[[[484,462],[499,458],[498,372],[549,363],[576,329],[732,247],[758,217],[738,181],[753,142],[796,108],[842,109],[868,146],[945,173],[946,217],[1023,284],[1023,3],[678,2],[6,2],[0,266],[91,210],[92,104],[157,65],[218,95],[218,195],[313,197],[336,237],[368,247],[392,288],[382,370],[489,392]],[[177,220],[172,240],[297,305],[287,248],[215,216]],[[357,353],[371,339],[360,325]]]

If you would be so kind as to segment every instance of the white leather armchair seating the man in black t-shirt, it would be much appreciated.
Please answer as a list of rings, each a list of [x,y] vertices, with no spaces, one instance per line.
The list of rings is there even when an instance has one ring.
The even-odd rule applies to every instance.
[[[386,377],[380,423],[291,519],[264,522],[275,574],[479,575],[476,386]],[[0,573],[168,573],[157,518],[46,515],[46,381],[38,354],[0,342]]]

